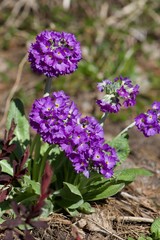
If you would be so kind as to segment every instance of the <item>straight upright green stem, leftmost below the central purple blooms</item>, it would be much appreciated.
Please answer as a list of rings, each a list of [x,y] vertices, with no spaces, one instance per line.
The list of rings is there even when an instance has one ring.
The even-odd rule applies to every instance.
[[[41,138],[40,138],[40,135],[37,134],[36,143],[35,143],[34,159],[33,159],[33,168],[32,168],[32,179],[35,181],[38,180],[38,169],[39,169],[39,163],[40,163],[40,148],[41,148]]]

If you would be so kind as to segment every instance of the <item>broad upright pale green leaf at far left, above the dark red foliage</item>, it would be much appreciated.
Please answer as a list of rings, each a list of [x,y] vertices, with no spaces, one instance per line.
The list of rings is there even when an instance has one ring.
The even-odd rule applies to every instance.
[[[24,114],[23,103],[19,99],[14,99],[8,111],[7,129],[10,128],[12,119],[17,124],[15,129],[16,140],[27,146],[29,143],[29,123]]]

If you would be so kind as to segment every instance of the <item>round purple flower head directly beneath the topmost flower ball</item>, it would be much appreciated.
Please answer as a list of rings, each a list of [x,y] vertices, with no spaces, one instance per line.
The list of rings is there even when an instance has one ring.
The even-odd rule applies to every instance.
[[[58,144],[66,139],[80,113],[63,91],[35,100],[29,115],[30,125],[44,142]]]

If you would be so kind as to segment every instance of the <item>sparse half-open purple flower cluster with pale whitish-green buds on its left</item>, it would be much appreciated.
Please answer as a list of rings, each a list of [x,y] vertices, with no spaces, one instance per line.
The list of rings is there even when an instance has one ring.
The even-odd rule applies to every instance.
[[[106,90],[105,96],[97,100],[102,112],[117,113],[122,106],[128,108],[136,104],[136,96],[139,93],[139,86],[133,85],[132,81],[125,77],[115,78],[113,82],[103,80],[97,84],[100,92]]]

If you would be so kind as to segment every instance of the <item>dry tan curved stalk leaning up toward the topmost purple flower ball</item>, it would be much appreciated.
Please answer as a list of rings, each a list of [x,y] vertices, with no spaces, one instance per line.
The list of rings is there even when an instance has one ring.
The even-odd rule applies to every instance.
[[[26,63],[26,60],[27,60],[27,55],[28,55],[28,53],[23,57],[23,59],[21,60],[19,66],[18,66],[16,81],[15,81],[15,83],[14,83],[14,85],[13,85],[13,87],[12,87],[8,97],[7,97],[4,114],[3,114],[2,120],[0,121],[0,128],[5,124],[8,109],[9,109],[9,106],[10,106],[10,101],[11,101],[12,97],[14,96],[15,92],[17,91],[17,89],[19,87],[23,67],[24,67],[24,64]]]

